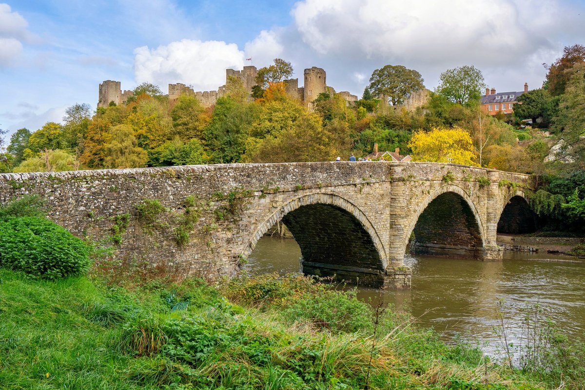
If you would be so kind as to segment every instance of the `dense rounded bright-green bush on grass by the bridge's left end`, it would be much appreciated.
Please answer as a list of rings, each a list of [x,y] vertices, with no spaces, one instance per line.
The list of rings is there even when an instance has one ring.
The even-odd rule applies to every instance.
[[[90,248],[66,229],[39,217],[0,223],[0,264],[35,278],[56,280],[84,274]]]

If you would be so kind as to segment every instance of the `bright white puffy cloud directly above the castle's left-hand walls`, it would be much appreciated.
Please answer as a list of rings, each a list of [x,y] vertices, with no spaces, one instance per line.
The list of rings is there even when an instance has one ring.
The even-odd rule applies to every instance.
[[[245,55],[236,44],[184,39],[166,46],[134,51],[136,82],[151,82],[166,90],[168,83],[185,83],[195,90],[215,90],[225,84],[225,69],[242,69]]]

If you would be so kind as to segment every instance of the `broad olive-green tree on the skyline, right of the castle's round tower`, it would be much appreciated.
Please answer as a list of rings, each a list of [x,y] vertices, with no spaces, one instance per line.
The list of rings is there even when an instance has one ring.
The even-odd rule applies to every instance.
[[[425,88],[423,82],[421,74],[415,70],[402,65],[386,65],[372,72],[366,90],[375,96],[386,97],[393,106],[397,106],[403,104],[412,92]]]

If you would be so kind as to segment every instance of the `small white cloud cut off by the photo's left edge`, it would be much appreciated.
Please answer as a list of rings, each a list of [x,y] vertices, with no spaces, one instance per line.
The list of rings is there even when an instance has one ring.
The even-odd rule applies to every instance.
[[[28,23],[8,4],[0,3],[0,66],[12,64],[22,53],[22,41],[32,38]]]

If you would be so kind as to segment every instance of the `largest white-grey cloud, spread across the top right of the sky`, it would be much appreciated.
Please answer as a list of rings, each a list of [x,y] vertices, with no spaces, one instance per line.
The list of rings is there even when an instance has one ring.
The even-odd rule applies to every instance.
[[[319,54],[491,66],[555,46],[568,11],[553,0],[305,0],[292,16]]]

